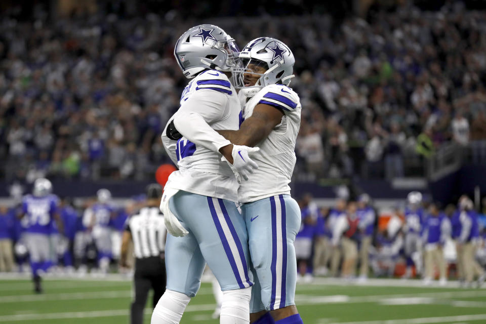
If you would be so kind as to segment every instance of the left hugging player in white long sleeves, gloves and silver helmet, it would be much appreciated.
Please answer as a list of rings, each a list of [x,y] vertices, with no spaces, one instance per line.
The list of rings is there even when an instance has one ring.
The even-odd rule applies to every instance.
[[[179,170],[169,177],[160,209],[168,232],[167,289],[152,324],[178,323],[200,286],[206,262],[223,291],[220,323],[248,323],[253,276],[248,233],[238,213],[238,182],[257,165],[249,152],[258,148],[231,144],[215,130],[237,130],[241,106],[228,76],[238,49],[214,25],[187,30],[174,55],[187,78],[180,108],[162,140]],[[175,137],[179,132],[182,137]],[[222,156],[226,161],[222,161]]]

